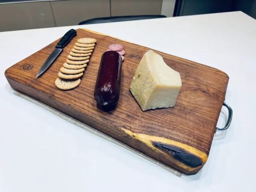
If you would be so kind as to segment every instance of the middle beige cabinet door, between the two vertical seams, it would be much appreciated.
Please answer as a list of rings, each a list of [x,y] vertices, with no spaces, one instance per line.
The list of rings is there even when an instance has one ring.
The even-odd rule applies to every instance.
[[[110,0],[51,1],[56,26],[78,25],[96,17],[110,17]]]

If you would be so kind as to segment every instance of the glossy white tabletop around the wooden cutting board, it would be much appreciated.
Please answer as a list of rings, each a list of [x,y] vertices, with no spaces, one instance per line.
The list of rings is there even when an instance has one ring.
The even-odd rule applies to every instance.
[[[79,27],[229,75],[233,121],[197,175],[177,177],[13,95],[4,71]],[[244,13],[1,32],[0,53],[1,192],[256,191],[256,20]]]

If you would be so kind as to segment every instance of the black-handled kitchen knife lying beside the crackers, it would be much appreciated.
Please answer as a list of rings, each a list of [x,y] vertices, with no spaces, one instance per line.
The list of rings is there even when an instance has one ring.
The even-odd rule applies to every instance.
[[[73,37],[76,36],[76,30],[71,29],[69,30],[58,42],[55,49],[52,51],[52,53],[49,55],[46,61],[44,61],[44,64],[38,71],[38,74],[36,77],[41,76],[47,69],[50,67],[50,65],[53,63],[53,61],[58,57],[58,55],[61,53],[63,48],[71,41]]]

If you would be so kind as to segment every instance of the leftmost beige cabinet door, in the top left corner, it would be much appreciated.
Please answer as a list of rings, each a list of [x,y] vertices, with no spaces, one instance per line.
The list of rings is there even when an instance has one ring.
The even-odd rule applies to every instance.
[[[49,2],[0,4],[0,32],[54,27]]]

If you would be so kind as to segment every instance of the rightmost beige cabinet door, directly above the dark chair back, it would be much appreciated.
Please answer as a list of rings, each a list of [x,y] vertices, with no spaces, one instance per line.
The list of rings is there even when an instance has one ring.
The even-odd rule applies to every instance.
[[[162,0],[111,0],[111,16],[160,15]]]

